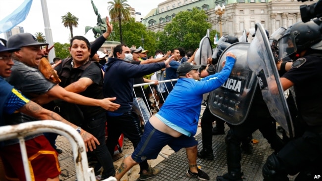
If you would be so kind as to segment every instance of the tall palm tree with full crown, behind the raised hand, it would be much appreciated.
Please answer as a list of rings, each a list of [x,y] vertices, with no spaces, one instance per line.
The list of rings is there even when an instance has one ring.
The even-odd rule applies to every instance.
[[[122,21],[130,20],[130,5],[126,3],[127,0],[113,0],[108,1],[107,3],[110,4],[107,7],[109,11],[109,16],[112,21],[117,22],[119,25],[119,34],[120,34],[120,42],[123,43],[122,38]]]

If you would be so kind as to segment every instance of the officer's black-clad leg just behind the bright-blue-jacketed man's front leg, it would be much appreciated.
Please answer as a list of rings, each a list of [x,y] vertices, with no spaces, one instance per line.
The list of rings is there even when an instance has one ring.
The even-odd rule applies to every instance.
[[[207,106],[203,116],[201,118],[201,136],[202,136],[202,143],[203,149],[198,152],[199,158],[204,158],[207,160],[214,159],[213,153],[213,122],[215,121],[215,116],[210,112],[209,107]]]

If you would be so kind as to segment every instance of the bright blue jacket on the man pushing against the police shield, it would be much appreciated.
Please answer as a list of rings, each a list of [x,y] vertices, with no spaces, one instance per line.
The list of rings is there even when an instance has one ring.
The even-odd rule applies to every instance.
[[[194,136],[197,132],[203,94],[220,87],[229,77],[235,59],[226,58],[223,69],[200,81],[180,78],[158,114]]]

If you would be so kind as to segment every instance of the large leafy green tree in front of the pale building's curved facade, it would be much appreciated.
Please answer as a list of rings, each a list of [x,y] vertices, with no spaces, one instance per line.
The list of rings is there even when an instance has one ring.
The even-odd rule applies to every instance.
[[[157,33],[157,48],[168,50],[184,47],[187,51],[194,51],[199,47],[200,40],[206,35],[207,29],[212,28],[212,25],[206,21],[207,18],[204,10],[195,7],[192,11],[179,12],[171,23],[165,25],[163,32]],[[210,34],[215,36],[214,31]]]

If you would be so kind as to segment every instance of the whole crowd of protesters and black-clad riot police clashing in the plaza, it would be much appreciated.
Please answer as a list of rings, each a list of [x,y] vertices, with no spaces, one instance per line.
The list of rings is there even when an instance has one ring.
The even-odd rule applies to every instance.
[[[198,167],[197,158],[214,160],[212,136],[225,134],[225,120],[210,112],[210,102],[206,101],[201,120],[203,147],[199,152],[194,136],[203,95],[223,85],[238,61],[238,55],[229,51],[220,65],[218,58],[238,39],[226,36],[226,41],[218,45],[219,51],[202,68],[194,63],[197,50],[186,53],[182,47],[164,54],[157,50],[149,58],[149,50],[125,44],[116,45],[109,54],[106,49],[99,51],[113,29],[108,18],[106,21],[107,31],[94,42],[75,36],[70,40],[70,57],[54,58],[53,74],[59,77],[58,83],[39,70],[41,59],[51,50],[48,44],[37,42],[30,33],[1,40],[0,126],[47,119],[72,126],[84,139],[88,155],[96,157],[98,167],[103,168],[99,173],[102,180],[115,177],[120,181],[137,164],[139,180],[156,177],[161,170],[152,168],[148,160],[156,159],[161,149],[169,145],[175,152],[185,148],[187,177],[242,181],[241,148],[251,150],[249,141],[256,130],[261,131],[274,149],[263,167],[265,181],[288,181],[288,175],[296,174],[297,181],[307,181],[321,173],[322,34],[315,22],[295,23],[277,44],[280,86],[283,90],[294,88],[295,137],[286,140],[276,134],[276,121],[257,86],[246,121],[239,125],[226,123],[229,127],[225,137],[227,173],[210,178]],[[174,79],[178,80],[159,85],[160,80]],[[135,84],[152,82],[150,86],[133,89]],[[277,92],[276,85],[270,86],[270,90]],[[152,94],[155,102],[149,100]],[[157,111],[152,114],[154,107]],[[115,171],[112,155],[121,134],[132,142],[134,152]],[[57,156],[62,151],[55,145],[56,137],[44,133],[25,138],[31,176],[35,180],[59,181]],[[6,179],[26,180],[18,140],[2,141],[0,146]]]

